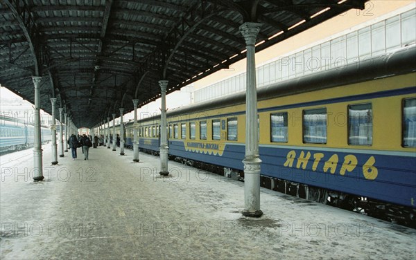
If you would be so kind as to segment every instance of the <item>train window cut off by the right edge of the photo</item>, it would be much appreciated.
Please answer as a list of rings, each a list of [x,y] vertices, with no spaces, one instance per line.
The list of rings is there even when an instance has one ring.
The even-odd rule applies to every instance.
[[[403,100],[403,146],[416,147],[416,98]]]

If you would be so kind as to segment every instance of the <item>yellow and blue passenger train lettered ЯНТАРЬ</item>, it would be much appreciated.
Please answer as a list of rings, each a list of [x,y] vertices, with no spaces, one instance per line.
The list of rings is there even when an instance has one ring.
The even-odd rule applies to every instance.
[[[259,88],[261,186],[416,226],[415,61],[406,46]],[[244,179],[245,93],[166,117],[170,159]],[[159,153],[159,121],[138,120],[141,151]]]

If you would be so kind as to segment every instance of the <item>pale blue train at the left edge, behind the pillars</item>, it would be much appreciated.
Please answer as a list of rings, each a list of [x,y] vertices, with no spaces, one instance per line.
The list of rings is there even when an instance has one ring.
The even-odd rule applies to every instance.
[[[51,129],[41,127],[42,144],[52,140]],[[35,144],[35,127],[15,118],[0,118],[0,153],[20,151]]]

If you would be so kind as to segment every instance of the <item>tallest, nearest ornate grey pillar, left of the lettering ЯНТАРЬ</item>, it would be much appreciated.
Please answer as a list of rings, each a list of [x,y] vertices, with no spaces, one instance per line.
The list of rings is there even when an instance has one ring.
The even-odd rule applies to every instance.
[[[240,26],[247,48],[247,88],[245,94],[245,157],[244,163],[244,216],[259,217],[260,164],[259,129],[257,128],[257,87],[255,47],[261,24],[246,22]]]

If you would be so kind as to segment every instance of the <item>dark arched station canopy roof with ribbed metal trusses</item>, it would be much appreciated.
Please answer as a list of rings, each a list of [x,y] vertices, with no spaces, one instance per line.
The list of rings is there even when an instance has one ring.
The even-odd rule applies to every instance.
[[[0,84],[40,106],[51,97],[76,127],[94,127],[245,57],[239,26],[261,24],[256,50],[367,0],[1,0]],[[58,113],[57,113],[58,114]]]

